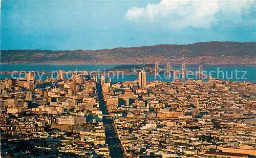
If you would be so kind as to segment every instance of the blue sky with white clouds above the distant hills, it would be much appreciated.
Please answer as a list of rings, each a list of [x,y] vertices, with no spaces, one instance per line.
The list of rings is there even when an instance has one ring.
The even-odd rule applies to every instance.
[[[1,50],[256,41],[255,16],[249,0],[2,0]]]

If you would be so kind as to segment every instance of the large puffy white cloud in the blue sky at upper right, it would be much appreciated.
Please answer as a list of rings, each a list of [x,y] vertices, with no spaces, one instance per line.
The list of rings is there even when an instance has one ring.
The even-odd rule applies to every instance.
[[[147,4],[145,8],[134,7],[127,11],[125,17],[131,21],[165,22],[167,27],[207,28],[218,22],[215,16],[218,12],[233,24],[240,24],[251,7],[255,7],[254,0],[162,0],[159,4]]]

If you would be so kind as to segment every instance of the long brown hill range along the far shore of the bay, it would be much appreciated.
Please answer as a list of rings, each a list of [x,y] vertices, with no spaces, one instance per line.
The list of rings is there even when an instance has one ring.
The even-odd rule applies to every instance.
[[[103,50],[2,50],[2,63],[256,64],[256,42],[198,42]]]

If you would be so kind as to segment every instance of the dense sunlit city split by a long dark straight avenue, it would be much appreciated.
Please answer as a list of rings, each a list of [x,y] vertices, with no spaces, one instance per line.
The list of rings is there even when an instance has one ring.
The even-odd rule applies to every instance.
[[[1,156],[256,156],[253,83],[57,72],[0,80]]]

